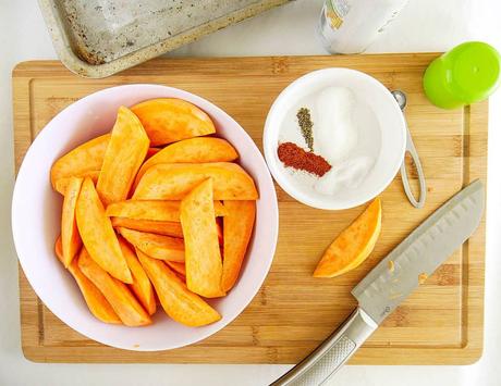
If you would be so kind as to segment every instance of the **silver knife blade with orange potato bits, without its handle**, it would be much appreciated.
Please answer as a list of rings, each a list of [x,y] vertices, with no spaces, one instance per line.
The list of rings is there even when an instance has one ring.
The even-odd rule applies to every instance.
[[[431,214],[353,288],[359,307],[380,324],[477,228],[484,187],[468,185]]]

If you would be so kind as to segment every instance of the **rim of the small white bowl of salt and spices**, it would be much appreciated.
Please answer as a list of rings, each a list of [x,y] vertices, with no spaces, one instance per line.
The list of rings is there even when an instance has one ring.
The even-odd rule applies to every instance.
[[[394,165],[392,165],[391,169],[391,177],[388,177],[381,183],[381,185],[378,188],[375,188],[374,191],[367,196],[366,199],[363,200],[347,200],[346,204],[335,204],[335,202],[332,201],[320,201],[315,199],[313,196],[302,192],[298,189],[296,189],[293,184],[291,184],[288,178],[284,176],[284,174],[279,170],[278,167],[278,162],[274,157],[276,153],[276,141],[270,138],[271,136],[271,127],[272,127],[272,121],[274,119],[274,115],[277,114],[279,110],[279,104],[282,103],[282,101],[285,98],[290,98],[292,95],[293,90],[300,86],[300,85],[305,85],[309,84],[313,80],[318,79],[319,77],[323,76],[329,76],[332,73],[345,73],[345,74],[354,74],[357,77],[365,78],[365,80],[369,82],[374,87],[377,89],[383,91],[383,94],[387,96],[386,100],[388,103],[392,107],[392,109],[395,111],[398,119],[399,119],[399,126],[401,127],[401,138],[402,138],[402,144],[401,148],[399,151],[399,163],[395,162]],[[268,169],[270,170],[274,180],[278,183],[278,185],[285,190],[291,197],[293,197],[295,200],[311,207],[316,209],[323,209],[323,210],[345,210],[345,209],[351,209],[358,207],[365,202],[368,202],[369,200],[374,199],[375,197],[379,196],[394,179],[396,176],[399,170],[402,166],[402,162],[404,161],[405,157],[405,149],[406,149],[406,124],[405,124],[405,119],[402,110],[399,107],[399,103],[395,101],[393,96],[391,95],[390,90],[377,78],[374,76],[370,76],[362,71],[354,70],[354,69],[347,69],[347,67],[326,67],[326,69],[320,69],[320,70],[315,70],[311,71],[305,75],[300,76],[295,80],[293,80],[291,84],[289,84],[276,98],[273,103],[271,104],[271,108],[268,112],[268,115],[266,117],[265,122],[265,129],[262,134],[262,148],[264,148],[264,153],[265,153],[265,159],[268,164]]]

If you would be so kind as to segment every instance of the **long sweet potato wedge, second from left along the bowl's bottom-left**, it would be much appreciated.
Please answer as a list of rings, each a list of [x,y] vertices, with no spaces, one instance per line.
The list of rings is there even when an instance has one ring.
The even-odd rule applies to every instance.
[[[151,324],[151,319],[125,284],[111,277],[90,259],[83,248],[78,257],[78,267],[87,278],[102,292],[105,298],[126,326]]]

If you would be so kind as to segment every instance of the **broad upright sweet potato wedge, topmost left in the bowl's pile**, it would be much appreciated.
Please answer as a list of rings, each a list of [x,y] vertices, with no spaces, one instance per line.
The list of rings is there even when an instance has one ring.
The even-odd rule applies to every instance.
[[[105,207],[127,198],[148,148],[149,139],[139,120],[121,107],[96,185]]]

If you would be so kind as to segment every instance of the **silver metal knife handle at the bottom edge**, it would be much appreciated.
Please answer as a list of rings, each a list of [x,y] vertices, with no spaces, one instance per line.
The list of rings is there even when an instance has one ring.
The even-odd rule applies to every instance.
[[[329,379],[377,328],[357,308],[344,323],[308,357],[270,386],[318,386]]]

